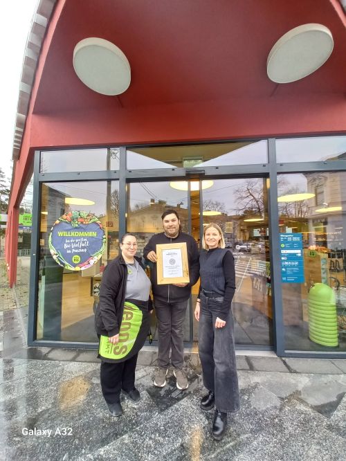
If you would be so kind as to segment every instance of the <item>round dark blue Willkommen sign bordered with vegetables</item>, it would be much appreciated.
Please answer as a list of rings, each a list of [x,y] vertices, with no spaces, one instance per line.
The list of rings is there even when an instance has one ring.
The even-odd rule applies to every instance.
[[[106,236],[95,215],[72,211],[55,221],[48,244],[57,264],[70,271],[83,271],[102,256]]]

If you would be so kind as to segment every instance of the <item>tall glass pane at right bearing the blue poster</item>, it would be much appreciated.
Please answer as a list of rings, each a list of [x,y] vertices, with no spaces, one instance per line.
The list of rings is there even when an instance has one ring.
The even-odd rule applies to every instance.
[[[278,177],[286,350],[346,350],[345,183],[346,172]]]

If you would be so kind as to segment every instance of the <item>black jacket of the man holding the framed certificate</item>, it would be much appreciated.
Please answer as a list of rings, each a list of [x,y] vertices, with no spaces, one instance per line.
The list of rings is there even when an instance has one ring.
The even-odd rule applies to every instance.
[[[155,298],[164,302],[179,302],[185,301],[189,298],[191,293],[191,287],[199,279],[199,250],[197,243],[191,235],[179,232],[176,238],[167,237],[164,232],[153,235],[144,248],[143,256],[146,258],[150,251],[155,251],[157,244],[168,244],[168,243],[181,243],[186,242],[188,249],[188,263],[189,263],[189,275],[190,283],[186,287],[176,287],[173,284],[158,285],[157,284],[157,271],[156,263],[149,262],[149,266],[152,268],[151,280],[152,280],[152,292]]]

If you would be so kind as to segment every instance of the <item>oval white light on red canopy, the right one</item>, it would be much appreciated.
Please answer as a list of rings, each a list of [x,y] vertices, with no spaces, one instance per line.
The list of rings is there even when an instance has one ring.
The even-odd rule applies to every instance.
[[[276,83],[300,80],[325,64],[333,51],[331,31],[322,24],[303,24],[277,40],[266,61],[268,77]]]

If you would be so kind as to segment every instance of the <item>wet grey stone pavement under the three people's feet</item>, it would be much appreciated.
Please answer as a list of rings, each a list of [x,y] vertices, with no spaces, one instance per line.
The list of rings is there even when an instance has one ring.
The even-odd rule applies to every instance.
[[[241,410],[221,442],[196,355],[190,386],[155,388],[153,350],[136,371],[141,399],[122,397],[125,414],[107,413],[95,350],[26,347],[19,309],[0,314],[1,460],[346,460],[346,361],[237,354]],[[43,432],[44,431],[44,432]]]

